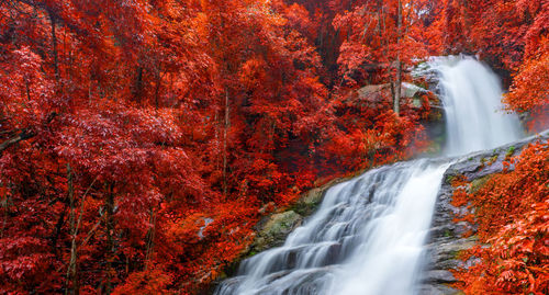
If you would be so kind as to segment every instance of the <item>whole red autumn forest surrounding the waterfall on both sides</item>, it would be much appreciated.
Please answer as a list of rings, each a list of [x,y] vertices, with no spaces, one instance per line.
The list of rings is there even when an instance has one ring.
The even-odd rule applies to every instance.
[[[546,0],[0,0],[0,294],[203,291],[261,216],[436,151],[401,89],[429,56],[489,64],[540,131],[548,29]],[[471,294],[549,290],[548,158],[461,194]]]

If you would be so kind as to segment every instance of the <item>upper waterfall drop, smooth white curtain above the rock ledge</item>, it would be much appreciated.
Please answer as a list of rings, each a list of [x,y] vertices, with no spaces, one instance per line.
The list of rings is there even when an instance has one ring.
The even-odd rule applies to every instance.
[[[436,57],[446,113],[446,155],[494,148],[522,137],[516,114],[505,112],[502,87],[492,70],[472,57]]]

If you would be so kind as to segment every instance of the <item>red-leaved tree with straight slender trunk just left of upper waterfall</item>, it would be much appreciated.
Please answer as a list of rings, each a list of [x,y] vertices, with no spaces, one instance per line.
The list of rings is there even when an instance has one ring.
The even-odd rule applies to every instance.
[[[403,63],[426,55],[417,21],[422,7],[395,1],[358,1],[352,10],[338,15],[334,25],[346,36],[341,45],[341,83],[390,82],[393,110],[400,113]]]

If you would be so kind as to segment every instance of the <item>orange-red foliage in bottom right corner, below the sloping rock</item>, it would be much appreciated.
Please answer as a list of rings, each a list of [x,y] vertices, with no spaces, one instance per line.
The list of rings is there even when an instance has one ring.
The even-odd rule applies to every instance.
[[[549,292],[549,143],[526,148],[511,159],[514,170],[490,178],[456,205],[469,204],[488,247],[466,253],[481,261],[457,273],[467,294],[547,294]]]

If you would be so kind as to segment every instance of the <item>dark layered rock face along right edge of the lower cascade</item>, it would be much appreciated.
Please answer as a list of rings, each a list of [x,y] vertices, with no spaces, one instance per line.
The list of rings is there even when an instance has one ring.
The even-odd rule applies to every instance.
[[[468,230],[475,232],[474,225],[468,223],[453,223],[456,214],[466,208],[452,206],[451,200],[453,188],[451,180],[458,175],[466,177],[472,182],[470,190],[478,190],[494,173],[503,171],[503,161],[520,151],[533,141],[545,141],[549,139],[549,131],[538,136],[524,139],[518,143],[508,144],[494,150],[479,151],[467,155],[453,163],[445,173],[441,189],[433,216],[429,238],[426,246],[426,270],[422,280],[419,294],[459,294],[459,291],[449,287],[456,283],[451,270],[467,266],[471,261],[460,261],[456,258],[459,251],[473,247],[477,242],[475,236],[462,238]],[[513,169],[513,167],[511,167]]]

